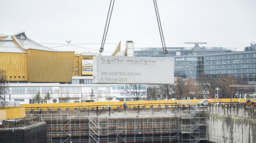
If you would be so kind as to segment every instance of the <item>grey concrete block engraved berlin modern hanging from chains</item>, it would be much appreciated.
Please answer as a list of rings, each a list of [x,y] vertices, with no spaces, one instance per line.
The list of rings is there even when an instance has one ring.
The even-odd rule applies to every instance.
[[[93,83],[174,84],[174,58],[93,57]]]

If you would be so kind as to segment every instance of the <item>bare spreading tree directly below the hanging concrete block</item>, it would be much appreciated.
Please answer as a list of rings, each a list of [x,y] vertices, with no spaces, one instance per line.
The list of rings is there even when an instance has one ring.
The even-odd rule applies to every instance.
[[[145,85],[127,85],[124,90],[126,90],[128,96],[133,97],[136,101],[147,93]]]

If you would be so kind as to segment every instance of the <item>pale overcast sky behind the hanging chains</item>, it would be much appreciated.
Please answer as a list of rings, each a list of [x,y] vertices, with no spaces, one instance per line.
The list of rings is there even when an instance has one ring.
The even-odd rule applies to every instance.
[[[0,0],[0,33],[38,43],[101,43],[110,0]],[[256,0],[157,0],[167,47],[237,48],[256,43]],[[106,43],[161,47],[153,0],[115,0]],[[99,47],[100,48],[100,47]]]

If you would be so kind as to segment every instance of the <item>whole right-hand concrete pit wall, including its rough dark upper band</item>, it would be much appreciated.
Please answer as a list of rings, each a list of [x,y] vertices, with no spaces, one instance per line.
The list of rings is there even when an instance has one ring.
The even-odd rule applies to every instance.
[[[256,108],[213,105],[208,107],[209,142],[255,143]]]

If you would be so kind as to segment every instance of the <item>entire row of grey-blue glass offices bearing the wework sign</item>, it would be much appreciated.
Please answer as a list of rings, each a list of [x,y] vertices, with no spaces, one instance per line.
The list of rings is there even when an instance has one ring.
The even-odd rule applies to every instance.
[[[197,79],[231,75],[251,81],[256,75],[256,44],[245,47],[244,51],[236,52],[236,48],[199,47],[205,42],[187,42],[194,47],[168,47],[164,54],[161,47],[135,48],[135,56],[174,57],[174,76]]]

